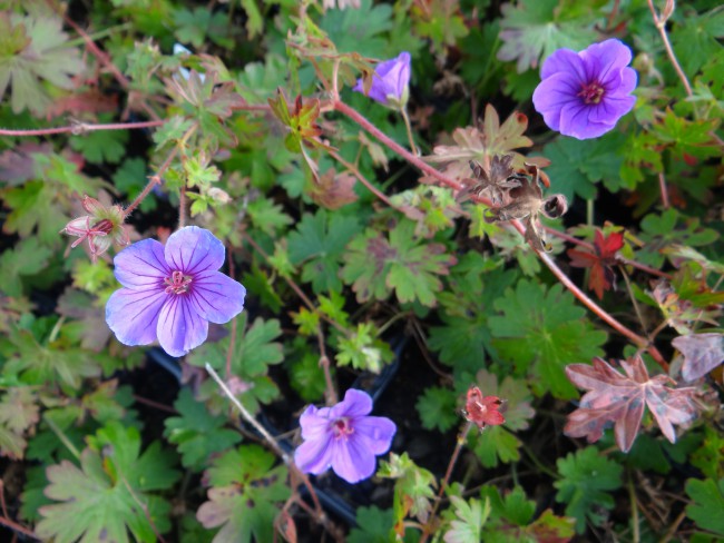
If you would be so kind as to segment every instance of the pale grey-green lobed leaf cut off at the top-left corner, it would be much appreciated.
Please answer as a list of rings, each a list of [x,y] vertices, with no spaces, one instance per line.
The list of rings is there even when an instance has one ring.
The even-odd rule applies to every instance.
[[[43,80],[72,88],[70,77],[82,71],[84,62],[78,49],[66,47],[66,41],[58,18],[0,13],[0,99],[10,85],[14,113],[45,112],[50,98]]]

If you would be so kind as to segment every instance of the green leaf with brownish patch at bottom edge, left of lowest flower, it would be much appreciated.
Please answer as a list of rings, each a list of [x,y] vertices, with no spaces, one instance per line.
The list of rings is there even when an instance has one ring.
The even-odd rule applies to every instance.
[[[207,529],[218,527],[214,541],[272,541],[278,505],[290,495],[284,465],[258,445],[243,445],[214,461],[207,471],[208,501],[196,519]]]

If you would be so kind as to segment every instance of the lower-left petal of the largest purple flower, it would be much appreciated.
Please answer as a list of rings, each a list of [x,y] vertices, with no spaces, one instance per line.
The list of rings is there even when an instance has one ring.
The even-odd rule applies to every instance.
[[[158,315],[167,300],[159,288],[120,288],[106,304],[106,323],[124,345],[148,345],[156,340]]]

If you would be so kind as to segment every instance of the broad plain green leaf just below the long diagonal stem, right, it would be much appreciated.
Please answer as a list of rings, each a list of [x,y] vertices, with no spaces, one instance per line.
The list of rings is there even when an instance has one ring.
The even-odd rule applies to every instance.
[[[488,319],[502,359],[511,361],[516,375],[529,374],[534,389],[556,397],[576,397],[565,374],[568,364],[603,356],[607,334],[596,330],[586,312],[574,305],[560,284],[544,285],[522,279],[495,304],[502,316]]]

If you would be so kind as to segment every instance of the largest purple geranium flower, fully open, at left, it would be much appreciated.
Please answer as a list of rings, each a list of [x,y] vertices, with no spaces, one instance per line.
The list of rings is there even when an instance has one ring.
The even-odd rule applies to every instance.
[[[121,250],[114,264],[124,286],[106,305],[106,322],[125,345],[156,339],[172,356],[206,340],[208,323],[229,322],[244,308],[246,289],[217,272],[224,245],[196,226],[174,233],[166,246],[144,239]]]

